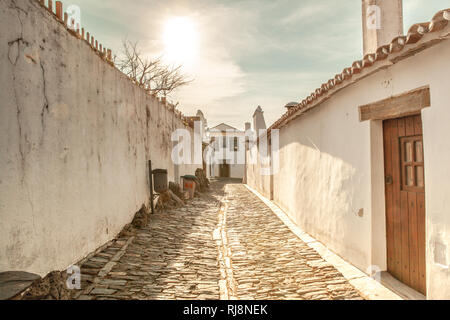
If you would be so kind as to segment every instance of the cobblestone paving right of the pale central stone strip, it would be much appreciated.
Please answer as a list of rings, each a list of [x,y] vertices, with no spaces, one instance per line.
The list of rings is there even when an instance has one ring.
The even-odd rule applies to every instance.
[[[361,299],[244,185],[227,185],[227,233],[238,299]]]

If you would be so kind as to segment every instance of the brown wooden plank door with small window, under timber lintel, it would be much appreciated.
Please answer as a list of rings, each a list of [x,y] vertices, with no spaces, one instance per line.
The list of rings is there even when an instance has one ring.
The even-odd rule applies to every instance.
[[[388,272],[425,295],[422,118],[385,120],[383,130]]]

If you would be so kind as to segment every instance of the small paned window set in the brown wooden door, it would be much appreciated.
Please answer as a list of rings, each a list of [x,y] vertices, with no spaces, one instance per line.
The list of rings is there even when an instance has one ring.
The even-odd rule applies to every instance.
[[[402,189],[424,191],[425,174],[422,136],[400,139]]]

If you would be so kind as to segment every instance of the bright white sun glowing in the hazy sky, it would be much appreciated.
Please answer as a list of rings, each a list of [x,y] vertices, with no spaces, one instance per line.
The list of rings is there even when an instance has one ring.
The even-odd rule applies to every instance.
[[[197,55],[197,30],[187,17],[167,20],[164,28],[165,58],[176,64],[189,65]]]

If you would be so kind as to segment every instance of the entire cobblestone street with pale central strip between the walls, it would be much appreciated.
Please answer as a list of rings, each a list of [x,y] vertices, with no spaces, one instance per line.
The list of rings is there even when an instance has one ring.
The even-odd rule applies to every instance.
[[[74,299],[361,299],[244,185],[217,181],[81,266]]]

